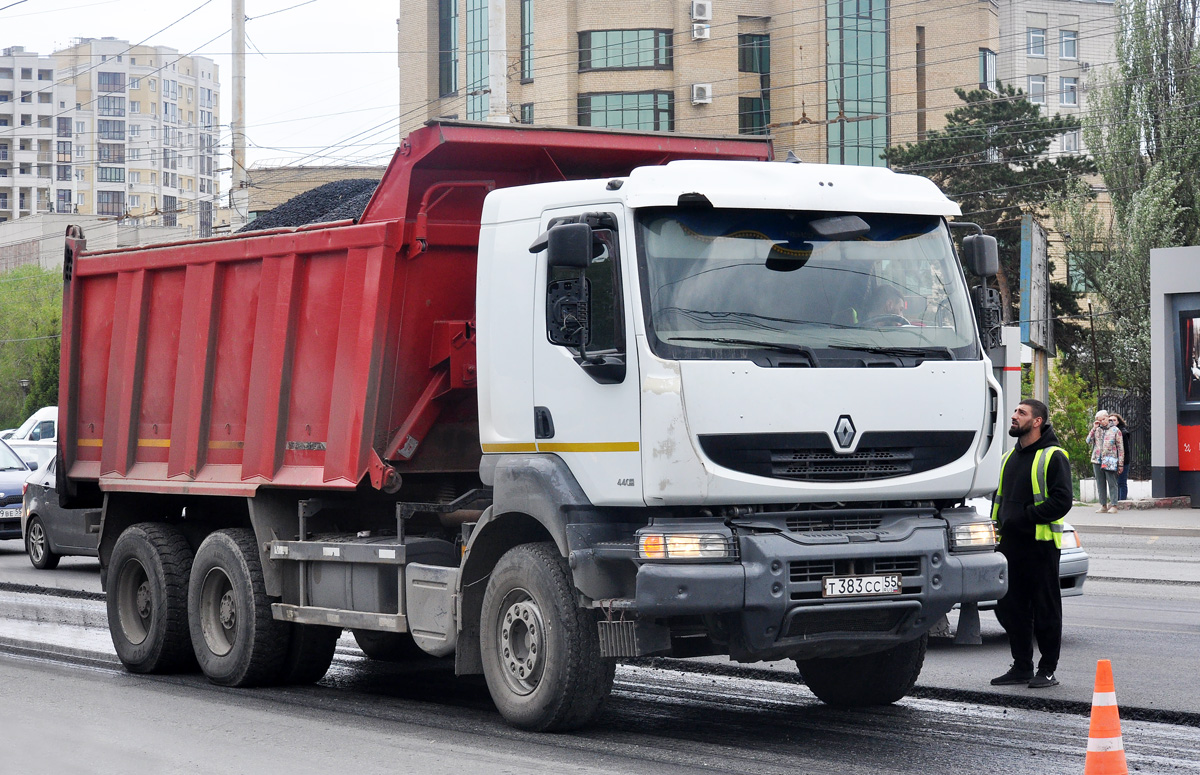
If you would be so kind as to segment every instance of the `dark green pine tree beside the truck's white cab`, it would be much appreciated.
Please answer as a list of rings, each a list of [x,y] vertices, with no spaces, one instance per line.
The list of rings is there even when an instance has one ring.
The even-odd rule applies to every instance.
[[[1048,215],[1072,180],[1096,172],[1086,156],[1049,157],[1050,143],[1080,128],[1073,116],[1044,116],[1025,94],[1012,85],[997,92],[956,89],[964,104],[946,114],[946,128],[929,132],[919,143],[899,145],[884,154],[896,172],[924,175],[962,208],[964,220],[974,221],[996,238],[1000,274],[996,286],[1003,301],[1003,319],[1015,319],[1019,304],[1021,216]],[[1051,293],[1055,317],[1078,313],[1074,296]],[[1060,347],[1072,349],[1078,326],[1055,329]]]

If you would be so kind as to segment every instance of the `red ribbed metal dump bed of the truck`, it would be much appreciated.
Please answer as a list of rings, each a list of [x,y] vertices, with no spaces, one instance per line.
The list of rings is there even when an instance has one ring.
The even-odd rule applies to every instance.
[[[248,495],[475,470],[475,251],[498,187],[766,140],[436,124],[359,223],[89,253],[68,236],[61,465],[106,491]]]

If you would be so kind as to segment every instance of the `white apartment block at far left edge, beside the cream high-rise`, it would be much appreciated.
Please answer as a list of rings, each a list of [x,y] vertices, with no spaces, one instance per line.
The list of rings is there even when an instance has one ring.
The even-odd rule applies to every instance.
[[[0,222],[71,211],[74,104],[53,58],[20,46],[0,52]]]

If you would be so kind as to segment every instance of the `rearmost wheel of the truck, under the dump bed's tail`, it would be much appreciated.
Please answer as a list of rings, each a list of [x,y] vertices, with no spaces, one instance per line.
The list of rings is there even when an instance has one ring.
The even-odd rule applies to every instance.
[[[108,630],[132,673],[194,669],[187,631],[192,547],[169,524],[130,525],[108,560]]]

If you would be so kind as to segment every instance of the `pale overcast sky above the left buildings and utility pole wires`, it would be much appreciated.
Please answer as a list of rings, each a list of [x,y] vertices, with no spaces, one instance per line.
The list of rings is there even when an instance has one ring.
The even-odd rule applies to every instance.
[[[385,164],[400,139],[398,0],[245,4],[248,164]],[[0,48],[48,55],[116,37],[216,61],[226,155],[230,29],[230,0],[0,0]]]

